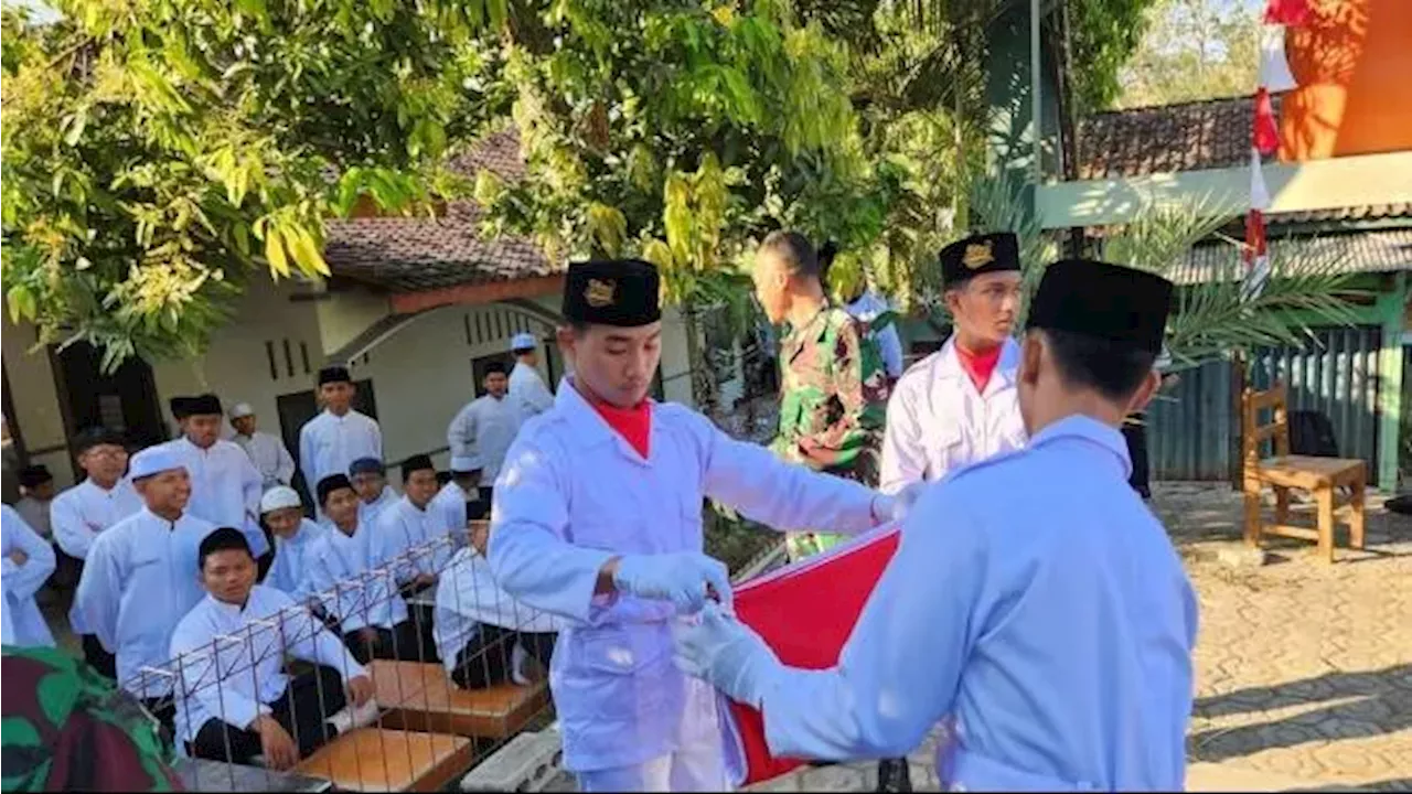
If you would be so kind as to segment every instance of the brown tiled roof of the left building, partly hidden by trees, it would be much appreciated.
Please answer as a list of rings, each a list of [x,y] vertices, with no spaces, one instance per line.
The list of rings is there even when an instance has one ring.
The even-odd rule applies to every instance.
[[[474,177],[489,170],[504,179],[525,174],[514,129],[483,140],[452,161],[452,168]],[[356,218],[330,220],[323,257],[335,275],[390,292],[418,292],[514,281],[562,273],[527,237],[486,239],[479,233],[480,208],[457,202],[439,218]]]

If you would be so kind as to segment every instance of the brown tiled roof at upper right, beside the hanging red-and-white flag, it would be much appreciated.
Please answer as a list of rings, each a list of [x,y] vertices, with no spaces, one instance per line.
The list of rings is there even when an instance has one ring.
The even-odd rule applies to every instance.
[[[1114,110],[1080,119],[1077,175],[1080,179],[1121,179],[1236,168],[1250,162],[1250,96],[1186,102],[1158,107]],[[1279,112],[1279,97],[1275,97]],[[1360,222],[1412,215],[1412,205],[1367,205],[1315,212],[1271,215],[1271,225]]]

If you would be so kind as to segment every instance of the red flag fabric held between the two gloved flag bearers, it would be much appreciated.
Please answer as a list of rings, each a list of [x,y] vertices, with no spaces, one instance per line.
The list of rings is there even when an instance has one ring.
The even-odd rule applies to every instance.
[[[853,626],[897,552],[898,527],[875,530],[847,545],[834,547],[736,588],[736,616],[754,629],[788,667],[827,670],[853,634]],[[760,712],[730,704],[741,756],[744,786],[762,783],[806,762],[778,759],[765,743]]]

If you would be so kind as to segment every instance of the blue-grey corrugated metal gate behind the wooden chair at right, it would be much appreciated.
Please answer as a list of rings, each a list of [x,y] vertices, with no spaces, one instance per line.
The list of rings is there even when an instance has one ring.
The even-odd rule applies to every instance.
[[[1289,386],[1289,410],[1322,411],[1333,422],[1339,454],[1378,470],[1378,326],[1316,329],[1305,348],[1261,348],[1251,386]],[[1182,373],[1176,389],[1148,410],[1154,479],[1223,480],[1238,454],[1240,415],[1233,401],[1233,365],[1209,362]],[[1399,384],[1401,386],[1401,384]]]

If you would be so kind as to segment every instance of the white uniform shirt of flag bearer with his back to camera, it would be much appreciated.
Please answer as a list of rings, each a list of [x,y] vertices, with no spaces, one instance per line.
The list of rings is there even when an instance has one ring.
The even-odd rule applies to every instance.
[[[839,665],[764,685],[771,750],[897,757],[946,721],[943,786],[1180,791],[1196,599],[1130,470],[1069,417],[928,490]]]

